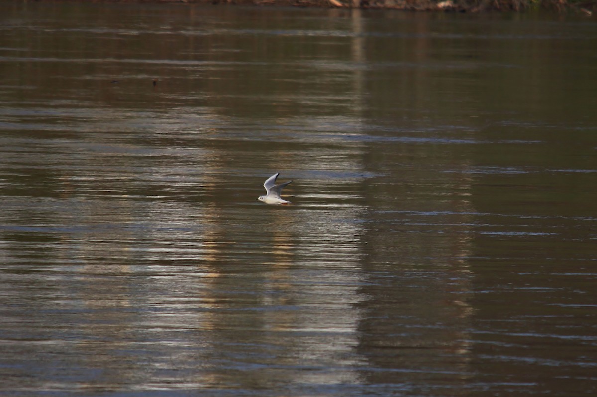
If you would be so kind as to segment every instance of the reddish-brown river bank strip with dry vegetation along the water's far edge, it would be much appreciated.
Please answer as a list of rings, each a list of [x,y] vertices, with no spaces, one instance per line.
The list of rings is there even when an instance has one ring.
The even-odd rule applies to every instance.
[[[39,1],[39,0],[38,0]],[[453,11],[528,11],[545,8],[576,11],[591,16],[597,0],[91,0],[96,2],[160,2],[189,4],[236,4],[322,8],[368,8],[377,10]]]

